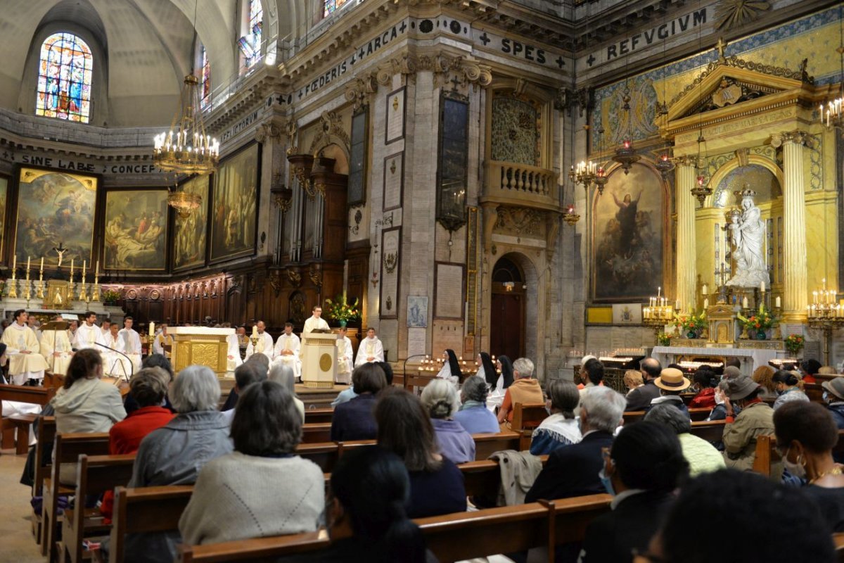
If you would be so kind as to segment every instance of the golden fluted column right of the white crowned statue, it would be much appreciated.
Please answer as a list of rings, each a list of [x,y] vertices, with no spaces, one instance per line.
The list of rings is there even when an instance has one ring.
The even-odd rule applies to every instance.
[[[803,188],[803,145],[810,143],[804,131],[790,131],[771,139],[782,143],[782,223],[785,243],[782,249],[784,298],[782,316],[786,322],[806,319],[809,284],[806,273],[806,197]]]

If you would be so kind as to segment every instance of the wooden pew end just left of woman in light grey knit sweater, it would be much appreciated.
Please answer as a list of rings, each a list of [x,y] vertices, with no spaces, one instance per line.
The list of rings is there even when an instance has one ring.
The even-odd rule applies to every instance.
[[[122,563],[127,533],[170,532],[179,529],[179,518],[191,500],[192,485],[127,489],[114,494],[110,563]]]

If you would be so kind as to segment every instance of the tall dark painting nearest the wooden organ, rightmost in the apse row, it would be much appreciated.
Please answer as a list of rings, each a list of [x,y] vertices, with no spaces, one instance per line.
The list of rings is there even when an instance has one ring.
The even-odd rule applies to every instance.
[[[255,252],[259,146],[253,143],[231,156],[214,174],[211,260]]]

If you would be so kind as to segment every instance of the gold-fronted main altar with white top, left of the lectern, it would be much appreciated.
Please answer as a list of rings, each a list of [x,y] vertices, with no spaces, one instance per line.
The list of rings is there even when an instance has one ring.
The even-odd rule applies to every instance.
[[[173,337],[170,362],[178,373],[188,365],[206,365],[218,377],[225,377],[229,343],[226,338],[234,328],[174,327],[167,328]]]

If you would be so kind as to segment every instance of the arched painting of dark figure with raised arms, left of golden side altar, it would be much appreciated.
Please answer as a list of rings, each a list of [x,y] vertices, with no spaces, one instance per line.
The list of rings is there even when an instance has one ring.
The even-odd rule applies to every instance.
[[[594,203],[592,298],[645,299],[663,284],[663,210],[659,176],[645,165],[616,169]]]

